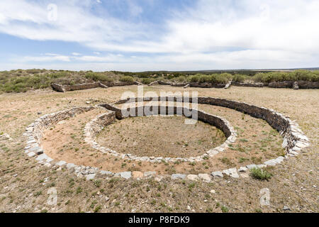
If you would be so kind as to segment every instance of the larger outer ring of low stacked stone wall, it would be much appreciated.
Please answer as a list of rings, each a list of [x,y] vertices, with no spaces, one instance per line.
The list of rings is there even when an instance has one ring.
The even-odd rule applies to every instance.
[[[135,99],[135,101],[155,101],[155,100],[171,100],[172,97],[156,97],[156,98],[145,98],[145,99]],[[173,98],[174,101],[180,101],[176,97]],[[129,101],[129,99],[123,99],[118,101],[116,104],[125,103]],[[187,97],[186,99],[182,99],[181,101],[189,101],[192,102],[191,98]],[[99,108],[99,106],[86,106],[86,107],[78,107],[74,109],[69,109],[66,111],[60,111],[54,114],[46,114],[38,118],[34,123],[31,123],[30,126],[26,128],[26,133],[23,133],[27,137],[25,153],[28,157],[35,157],[36,160],[46,167],[67,167],[70,171],[75,172],[78,177],[86,177],[86,179],[94,179],[94,177],[99,174],[107,177],[122,177],[124,179],[130,179],[131,177],[136,179],[147,178],[147,177],[155,177],[155,180],[160,181],[164,177],[170,177],[171,179],[189,179],[197,181],[201,179],[203,182],[211,182],[212,177],[223,177],[224,175],[228,175],[233,178],[245,178],[248,177],[247,170],[250,170],[254,167],[267,167],[278,165],[289,157],[293,157],[298,155],[298,153],[303,152],[304,148],[307,148],[310,143],[306,135],[301,131],[298,127],[298,124],[295,121],[291,121],[291,119],[283,114],[280,114],[272,109],[267,109],[264,107],[254,106],[252,104],[247,104],[244,102],[232,101],[228,99],[218,99],[212,97],[198,97],[198,104],[210,104],[214,106],[223,106],[230,109],[235,109],[237,111],[242,111],[245,114],[250,114],[250,116],[256,118],[262,118],[267,123],[269,123],[272,128],[279,131],[281,136],[284,138],[284,143],[282,144],[283,148],[286,148],[286,155],[284,157],[280,156],[276,159],[268,160],[261,165],[247,165],[245,167],[240,167],[238,169],[232,168],[228,170],[215,171],[211,172],[211,175],[208,174],[198,174],[198,175],[183,175],[183,174],[174,174],[174,175],[164,175],[159,176],[156,175],[156,172],[118,172],[113,173],[110,171],[99,171],[98,168],[95,167],[86,167],[83,165],[74,165],[73,163],[67,163],[65,161],[55,162],[51,157],[45,155],[44,150],[40,147],[40,139],[43,137],[43,131],[46,128],[52,126],[52,124],[63,121],[69,117],[75,116],[76,114],[83,113],[84,111],[91,111],[92,109]],[[113,108],[112,105],[111,108]],[[116,112],[112,117],[116,116]],[[108,117],[110,117],[108,116]]]

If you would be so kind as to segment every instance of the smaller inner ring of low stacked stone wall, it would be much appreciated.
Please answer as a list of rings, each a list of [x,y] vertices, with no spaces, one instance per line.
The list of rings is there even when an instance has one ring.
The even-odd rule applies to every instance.
[[[139,157],[137,155],[132,154],[122,154],[117,153],[115,150],[111,150],[109,148],[105,148],[98,143],[96,143],[96,135],[101,133],[103,128],[105,126],[108,126],[109,124],[113,123],[115,121],[115,118],[117,116],[118,119],[133,117],[133,116],[123,116],[123,110],[118,109],[116,106],[110,105],[110,104],[100,104],[99,106],[102,106],[108,110],[110,110],[110,113],[107,114],[101,114],[100,116],[97,116],[89,123],[86,123],[86,126],[84,128],[84,136],[85,136],[85,142],[89,143],[92,148],[99,150],[101,153],[108,153],[116,157],[121,157],[122,159],[132,160],[132,161],[141,161],[141,162],[202,162],[205,159],[208,159],[209,157],[213,157],[217,155],[220,152],[223,152],[225,148],[228,148],[228,145],[230,143],[234,143],[236,140],[236,131],[232,126],[230,126],[230,123],[225,120],[224,118],[220,118],[219,116],[214,116],[212,114],[207,114],[204,111],[198,111],[198,110],[192,110],[188,108],[181,108],[177,106],[139,106],[135,108],[127,109],[128,113],[134,113],[133,116],[138,116],[138,113],[144,113],[144,116],[152,116],[152,115],[159,115],[161,114],[161,110],[165,110],[166,116],[171,116],[178,113],[185,113],[187,111],[190,113],[191,111],[196,111],[196,114],[198,116],[199,121],[203,121],[206,123],[211,124],[212,126],[216,126],[219,128],[223,133],[225,133],[227,140],[225,142],[218,146],[217,148],[213,148],[211,150],[208,150],[203,155],[198,155],[197,157]],[[179,109],[180,108],[180,109]],[[151,110],[149,114],[145,114],[145,109]],[[155,112],[155,109],[157,111]],[[181,111],[182,110],[182,111]],[[116,114],[117,113],[117,114]],[[183,115],[183,114],[182,114]],[[183,115],[184,116],[184,115]]]

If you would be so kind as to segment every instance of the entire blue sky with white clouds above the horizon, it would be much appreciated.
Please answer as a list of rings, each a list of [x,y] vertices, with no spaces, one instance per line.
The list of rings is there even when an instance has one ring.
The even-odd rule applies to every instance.
[[[318,0],[0,0],[0,70],[319,67]]]

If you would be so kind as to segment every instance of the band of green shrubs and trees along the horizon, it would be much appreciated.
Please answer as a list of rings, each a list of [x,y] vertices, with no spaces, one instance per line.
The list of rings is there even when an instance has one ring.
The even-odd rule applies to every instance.
[[[196,82],[225,84],[235,82],[281,82],[311,81],[319,82],[319,71],[296,70],[293,72],[260,72],[249,70],[203,71],[203,72],[93,72],[68,70],[11,70],[0,72],[0,92],[26,92],[30,89],[45,89],[52,83],[82,84],[86,82],[133,82],[150,84],[157,80],[167,82]]]

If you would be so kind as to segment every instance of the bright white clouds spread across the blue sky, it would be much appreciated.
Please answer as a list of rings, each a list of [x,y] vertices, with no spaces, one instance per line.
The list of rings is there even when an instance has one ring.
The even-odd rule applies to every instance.
[[[57,21],[48,21],[44,3],[0,1],[0,32],[31,40],[77,42],[94,51],[92,56],[27,56],[22,58],[25,62],[97,62],[95,67],[107,62],[117,70],[318,66],[316,0],[200,0],[195,8],[172,12],[173,18],[167,18],[165,29],[159,31],[149,21],[102,18],[89,11],[93,2],[57,1]],[[133,16],[143,12],[128,2]],[[100,51],[128,53],[103,56]],[[138,57],[135,52],[152,57]]]

